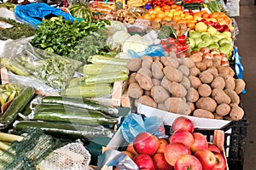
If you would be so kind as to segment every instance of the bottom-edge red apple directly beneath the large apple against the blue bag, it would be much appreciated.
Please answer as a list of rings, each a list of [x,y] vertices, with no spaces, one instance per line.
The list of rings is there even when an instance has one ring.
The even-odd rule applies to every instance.
[[[154,170],[154,162],[148,154],[138,154],[134,156],[133,161],[139,169]]]

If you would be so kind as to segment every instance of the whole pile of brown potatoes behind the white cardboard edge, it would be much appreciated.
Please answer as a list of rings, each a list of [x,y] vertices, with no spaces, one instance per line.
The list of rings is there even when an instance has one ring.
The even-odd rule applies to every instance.
[[[238,94],[245,82],[235,79],[235,71],[222,66],[220,59],[204,58],[206,53],[177,58],[171,52],[167,57],[131,59],[127,64],[132,72],[129,97],[135,99],[135,105],[138,102],[172,113],[240,120],[244,111]]]

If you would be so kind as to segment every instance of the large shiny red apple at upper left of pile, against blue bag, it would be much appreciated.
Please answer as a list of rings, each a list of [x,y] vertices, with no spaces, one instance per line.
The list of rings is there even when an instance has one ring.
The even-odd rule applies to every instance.
[[[159,140],[151,133],[139,133],[134,139],[133,147],[138,154],[153,156],[158,150]]]

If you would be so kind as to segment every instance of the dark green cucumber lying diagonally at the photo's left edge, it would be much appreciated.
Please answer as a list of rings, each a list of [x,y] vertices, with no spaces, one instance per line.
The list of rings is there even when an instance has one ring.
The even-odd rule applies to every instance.
[[[15,122],[18,113],[26,107],[34,94],[34,88],[27,87],[21,91],[19,96],[15,97],[7,110],[3,113],[3,116],[0,117],[0,129],[9,127]]]

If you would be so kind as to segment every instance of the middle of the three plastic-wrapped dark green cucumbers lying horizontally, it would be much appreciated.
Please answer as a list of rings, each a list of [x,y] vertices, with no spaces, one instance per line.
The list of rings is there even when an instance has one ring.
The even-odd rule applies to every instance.
[[[82,111],[77,109],[52,109],[48,111],[37,111],[33,115],[33,120],[49,122],[70,122],[90,126],[113,125],[119,122],[118,118],[106,116],[100,111]]]

